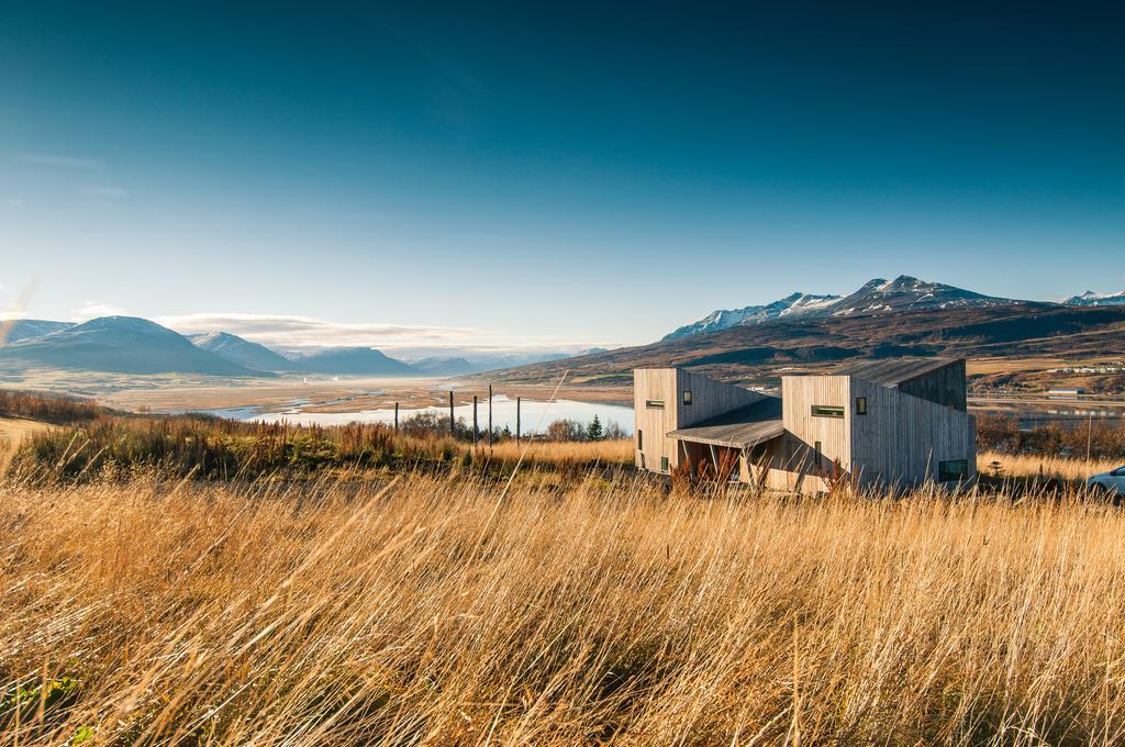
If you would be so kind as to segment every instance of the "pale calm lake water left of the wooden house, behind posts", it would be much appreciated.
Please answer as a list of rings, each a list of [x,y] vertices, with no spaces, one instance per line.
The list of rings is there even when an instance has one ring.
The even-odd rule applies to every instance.
[[[232,420],[251,421],[255,423],[292,423],[294,425],[346,425],[348,423],[394,423],[394,408],[386,410],[361,410],[354,413],[307,413],[300,407],[307,404],[298,400],[292,406],[280,413],[263,413],[261,407],[230,407],[226,410],[209,410],[212,415],[230,417]],[[504,396],[493,397],[493,428],[503,430],[506,425],[513,433],[515,432],[515,399]],[[573,420],[586,424],[594,420],[594,415],[602,421],[602,425],[616,423],[627,434],[632,434],[633,410],[623,405],[610,405],[602,402],[576,402],[573,399],[556,399],[555,402],[534,402],[524,399],[520,407],[520,425],[523,433],[538,433],[547,429],[557,420]],[[399,421],[404,421],[417,413],[438,413],[447,415],[449,407],[402,407],[398,411]],[[453,416],[464,418],[469,425],[472,424],[472,405],[458,405],[453,408]],[[482,400],[477,405],[477,422],[482,430],[488,426],[488,403]]]

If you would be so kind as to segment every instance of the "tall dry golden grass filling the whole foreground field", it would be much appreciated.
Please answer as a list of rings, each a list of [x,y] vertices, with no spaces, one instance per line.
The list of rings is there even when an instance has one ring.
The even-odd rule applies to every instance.
[[[0,745],[1125,739],[1118,510],[555,477],[0,483]]]

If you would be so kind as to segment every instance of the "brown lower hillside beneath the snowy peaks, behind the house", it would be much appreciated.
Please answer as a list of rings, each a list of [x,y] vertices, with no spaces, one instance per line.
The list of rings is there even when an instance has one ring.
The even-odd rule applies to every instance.
[[[886,315],[775,321],[637,348],[536,363],[501,380],[540,382],[570,371],[575,384],[631,382],[633,368],[682,366],[754,380],[791,366],[821,367],[901,356],[1089,357],[1125,354],[1125,307],[1058,304],[925,309]]]

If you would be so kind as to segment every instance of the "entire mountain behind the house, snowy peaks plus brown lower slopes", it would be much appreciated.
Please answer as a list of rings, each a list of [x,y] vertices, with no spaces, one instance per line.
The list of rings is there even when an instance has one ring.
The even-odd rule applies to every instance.
[[[1105,356],[1125,350],[1125,291],[1063,303],[986,296],[902,276],[848,296],[793,294],[719,309],[658,342],[504,371],[504,381],[627,384],[634,368],[682,366],[732,379],[778,367],[901,356]]]

